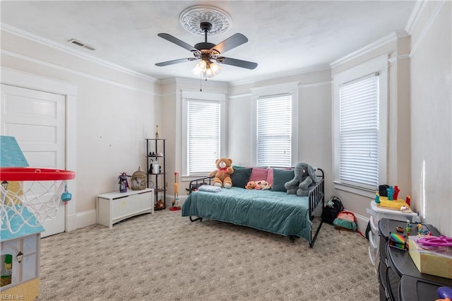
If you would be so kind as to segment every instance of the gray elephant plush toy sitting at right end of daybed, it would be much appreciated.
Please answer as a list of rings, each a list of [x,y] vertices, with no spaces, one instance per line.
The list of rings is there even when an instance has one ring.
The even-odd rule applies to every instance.
[[[295,166],[294,172],[295,177],[284,184],[285,189],[287,189],[287,194],[308,196],[310,188],[319,182],[316,176],[316,170],[307,163],[298,163]]]

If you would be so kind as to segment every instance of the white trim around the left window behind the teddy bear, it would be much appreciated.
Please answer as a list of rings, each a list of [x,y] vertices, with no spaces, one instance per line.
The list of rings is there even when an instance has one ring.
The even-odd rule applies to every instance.
[[[191,179],[194,177],[206,176],[206,173],[196,172],[189,174],[189,153],[188,143],[188,103],[189,100],[200,100],[204,102],[218,102],[220,103],[220,157],[225,156],[226,153],[226,95],[224,93],[209,93],[198,92],[193,90],[182,90],[182,180]]]

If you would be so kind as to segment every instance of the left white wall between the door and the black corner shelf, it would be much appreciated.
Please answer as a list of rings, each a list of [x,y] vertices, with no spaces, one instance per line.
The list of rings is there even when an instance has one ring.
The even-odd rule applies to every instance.
[[[3,30],[1,67],[76,86],[76,213],[69,218],[73,228],[95,223],[95,196],[117,191],[119,173],[146,166],[143,139],[153,137],[160,110],[155,80]]]

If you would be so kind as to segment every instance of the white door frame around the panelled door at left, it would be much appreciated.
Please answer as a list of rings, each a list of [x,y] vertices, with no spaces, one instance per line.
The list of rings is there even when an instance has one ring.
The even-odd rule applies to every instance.
[[[66,99],[66,141],[65,141],[65,169],[76,171],[76,100],[77,86],[54,78],[47,78],[33,73],[18,71],[16,69],[0,68],[0,83],[14,85],[20,88],[28,88],[48,93],[64,95]],[[76,225],[76,179],[68,181],[68,189],[71,191],[72,199],[64,206],[64,228],[65,231],[77,229]]]

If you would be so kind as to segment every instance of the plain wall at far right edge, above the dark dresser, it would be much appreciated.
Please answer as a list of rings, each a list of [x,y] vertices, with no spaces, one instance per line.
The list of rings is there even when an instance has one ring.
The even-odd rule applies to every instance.
[[[427,1],[411,38],[411,169],[415,206],[452,236],[451,1]]]

